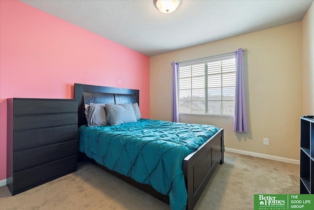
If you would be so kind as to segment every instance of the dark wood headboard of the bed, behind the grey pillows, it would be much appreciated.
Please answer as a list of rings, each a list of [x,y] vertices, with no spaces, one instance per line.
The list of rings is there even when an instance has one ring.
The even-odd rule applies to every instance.
[[[84,105],[89,103],[135,103],[139,105],[139,90],[74,84],[74,98],[78,99],[78,126],[86,124]]]

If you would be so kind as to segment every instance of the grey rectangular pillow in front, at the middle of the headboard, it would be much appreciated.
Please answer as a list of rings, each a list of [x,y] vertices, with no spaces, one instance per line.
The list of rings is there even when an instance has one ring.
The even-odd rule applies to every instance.
[[[136,122],[131,103],[128,104],[106,104],[106,120],[109,125],[119,125]]]

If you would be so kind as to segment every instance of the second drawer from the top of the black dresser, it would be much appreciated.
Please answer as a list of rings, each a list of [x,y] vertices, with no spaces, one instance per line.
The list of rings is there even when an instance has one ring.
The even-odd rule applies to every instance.
[[[13,119],[13,130],[24,130],[77,123],[78,114],[16,117]]]

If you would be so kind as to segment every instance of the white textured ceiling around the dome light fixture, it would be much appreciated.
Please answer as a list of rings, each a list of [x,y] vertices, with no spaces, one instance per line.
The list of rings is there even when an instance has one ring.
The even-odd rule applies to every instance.
[[[300,21],[313,0],[21,0],[147,56]]]

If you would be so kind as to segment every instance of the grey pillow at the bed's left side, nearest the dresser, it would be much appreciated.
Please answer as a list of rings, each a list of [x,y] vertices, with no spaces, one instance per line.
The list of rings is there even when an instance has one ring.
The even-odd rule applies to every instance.
[[[85,114],[86,114],[86,110],[88,113],[87,124],[89,127],[107,125],[105,104],[90,103],[89,107],[85,109]]]

